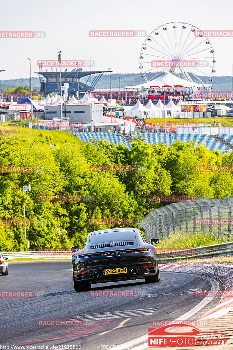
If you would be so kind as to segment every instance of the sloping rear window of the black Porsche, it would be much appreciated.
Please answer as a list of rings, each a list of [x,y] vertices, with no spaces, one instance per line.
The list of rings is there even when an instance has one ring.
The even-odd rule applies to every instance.
[[[136,232],[120,231],[120,232],[104,232],[90,236],[90,245],[110,242],[135,242]]]

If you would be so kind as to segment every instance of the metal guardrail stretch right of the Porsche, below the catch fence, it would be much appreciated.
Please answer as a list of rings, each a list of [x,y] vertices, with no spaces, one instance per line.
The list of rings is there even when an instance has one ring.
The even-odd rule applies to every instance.
[[[185,253],[187,251],[187,253]],[[194,254],[188,251],[195,251]],[[174,252],[174,253],[173,253]],[[201,258],[216,258],[221,256],[230,257],[233,256],[233,242],[206,245],[197,248],[188,248],[184,250],[171,250],[164,253],[157,253],[158,261],[173,262],[176,260],[185,259],[201,259]]]

